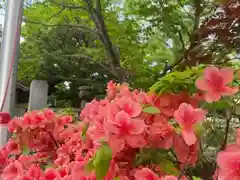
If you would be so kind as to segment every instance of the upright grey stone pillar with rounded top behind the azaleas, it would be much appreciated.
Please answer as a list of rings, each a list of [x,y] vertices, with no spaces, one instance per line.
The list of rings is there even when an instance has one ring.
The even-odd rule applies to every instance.
[[[33,80],[30,85],[28,110],[42,110],[47,105],[48,83],[42,80]]]

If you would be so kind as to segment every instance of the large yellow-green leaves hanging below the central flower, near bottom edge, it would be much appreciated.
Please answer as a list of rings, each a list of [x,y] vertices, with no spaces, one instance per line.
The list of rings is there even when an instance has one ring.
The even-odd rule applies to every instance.
[[[95,171],[97,180],[102,180],[108,172],[111,160],[112,150],[109,146],[103,144],[95,156],[88,162],[86,169],[88,171]]]

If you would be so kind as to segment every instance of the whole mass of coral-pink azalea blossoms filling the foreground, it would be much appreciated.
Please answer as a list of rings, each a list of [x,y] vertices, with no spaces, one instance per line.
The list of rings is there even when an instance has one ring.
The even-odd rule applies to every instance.
[[[200,102],[236,94],[238,88],[229,85],[233,74],[229,68],[206,68],[204,76],[196,81],[203,92],[194,95],[149,95],[131,91],[127,84],[109,82],[106,99],[88,103],[80,114],[82,121],[75,122],[71,116],[50,109],[14,118],[8,123],[12,137],[0,150],[0,179],[99,179],[86,167],[106,144],[112,157],[104,180],[187,180],[184,168],[195,166],[198,160],[196,126],[207,115],[199,108]],[[239,144],[219,153],[216,176],[221,180],[228,180],[234,173],[240,177],[240,164],[233,161],[240,157]],[[169,150],[179,174],[168,174],[157,163],[136,164],[139,154],[151,149]]]

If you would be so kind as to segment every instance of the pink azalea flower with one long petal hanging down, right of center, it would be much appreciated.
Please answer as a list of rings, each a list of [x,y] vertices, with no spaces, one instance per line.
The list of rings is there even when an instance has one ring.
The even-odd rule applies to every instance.
[[[202,109],[194,109],[190,104],[182,103],[174,112],[174,118],[182,128],[182,136],[187,145],[193,145],[197,141],[194,126],[202,121],[206,112]]]

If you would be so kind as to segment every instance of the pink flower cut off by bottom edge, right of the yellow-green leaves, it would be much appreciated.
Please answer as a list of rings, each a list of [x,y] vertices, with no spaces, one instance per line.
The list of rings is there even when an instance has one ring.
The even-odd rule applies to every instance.
[[[142,168],[135,172],[136,180],[160,180],[158,176],[148,168]]]

